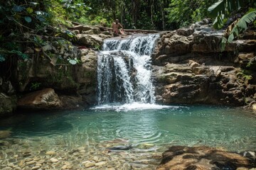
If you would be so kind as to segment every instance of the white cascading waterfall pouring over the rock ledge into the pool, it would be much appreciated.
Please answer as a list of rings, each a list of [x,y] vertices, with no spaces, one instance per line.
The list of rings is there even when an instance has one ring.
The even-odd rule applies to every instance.
[[[159,34],[104,40],[97,55],[97,102],[154,103],[151,53]]]

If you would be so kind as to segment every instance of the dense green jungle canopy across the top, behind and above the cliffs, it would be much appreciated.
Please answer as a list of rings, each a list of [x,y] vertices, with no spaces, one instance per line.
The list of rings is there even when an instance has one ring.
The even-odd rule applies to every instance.
[[[23,59],[28,57],[23,54],[25,44],[19,40],[23,33],[55,37],[65,33],[73,36],[65,29],[67,26],[72,26],[72,22],[110,27],[112,21],[119,18],[126,29],[174,30],[206,17],[217,16],[215,28],[222,28],[229,17],[238,18],[247,11],[254,11],[245,18],[245,24],[242,23],[242,27],[246,28],[246,24],[255,21],[256,16],[253,0],[1,0],[0,2],[0,62],[10,55],[18,55]],[[31,43],[39,47],[42,42],[33,38]]]

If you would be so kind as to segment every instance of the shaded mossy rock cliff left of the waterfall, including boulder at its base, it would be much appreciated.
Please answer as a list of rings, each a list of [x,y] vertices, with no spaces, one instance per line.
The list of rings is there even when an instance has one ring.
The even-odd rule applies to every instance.
[[[17,61],[13,81],[0,77],[0,117],[11,115],[17,106],[46,110],[95,104],[97,55],[94,48],[98,49],[111,35],[87,26],[75,26],[72,32],[75,37],[63,35],[66,39],[38,36],[38,40],[44,41],[42,47],[26,47],[25,53],[30,58]],[[33,36],[24,34],[25,40]],[[70,64],[70,59],[78,63]]]

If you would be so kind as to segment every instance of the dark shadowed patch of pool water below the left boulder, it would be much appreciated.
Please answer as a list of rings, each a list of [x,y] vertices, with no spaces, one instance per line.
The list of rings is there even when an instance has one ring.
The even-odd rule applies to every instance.
[[[10,130],[13,137],[47,136],[73,130],[63,111],[16,113],[0,120],[0,130]]]

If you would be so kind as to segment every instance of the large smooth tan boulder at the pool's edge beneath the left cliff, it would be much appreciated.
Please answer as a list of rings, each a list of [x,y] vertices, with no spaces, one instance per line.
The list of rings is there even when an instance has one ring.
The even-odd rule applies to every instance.
[[[18,100],[18,108],[49,110],[61,108],[63,104],[51,88],[34,91]]]

